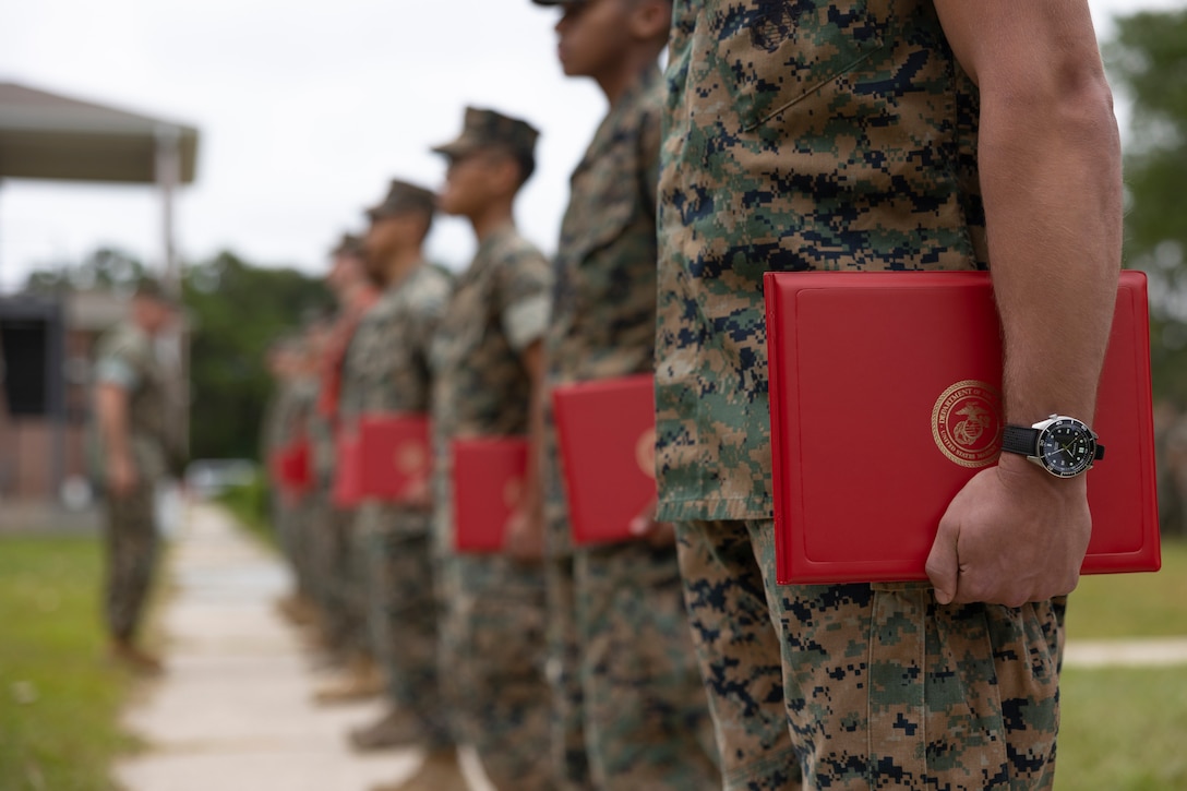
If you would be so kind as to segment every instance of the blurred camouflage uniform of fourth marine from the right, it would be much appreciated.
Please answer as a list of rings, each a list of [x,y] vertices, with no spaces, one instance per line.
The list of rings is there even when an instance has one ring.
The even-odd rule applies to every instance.
[[[426,264],[388,286],[347,353],[342,423],[364,415],[429,412],[429,347],[449,302],[449,276]],[[431,511],[364,500],[356,511],[357,568],[366,577],[372,647],[391,701],[423,726],[431,747],[452,743],[437,681],[438,599]]]

